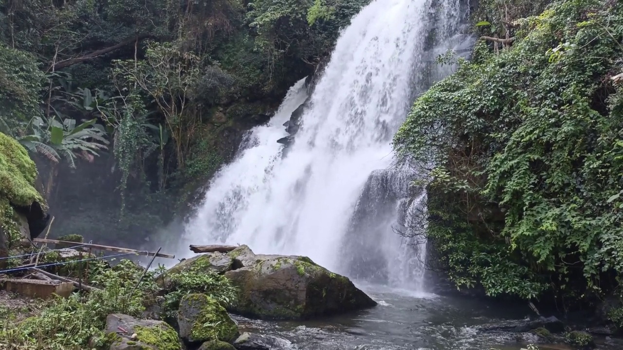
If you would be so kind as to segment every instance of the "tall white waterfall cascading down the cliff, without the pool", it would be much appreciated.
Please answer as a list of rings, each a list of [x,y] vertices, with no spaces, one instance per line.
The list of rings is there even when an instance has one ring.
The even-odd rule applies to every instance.
[[[409,188],[417,174],[392,165],[391,139],[417,94],[448,73],[432,60],[464,44],[461,6],[374,0],[364,7],[312,95],[298,82],[214,176],[186,224],[182,255],[188,244],[247,244],[307,255],[355,279],[422,288],[426,242],[394,230],[410,230],[409,210],[423,208],[426,194]],[[282,125],[303,102],[295,141],[283,152]]]

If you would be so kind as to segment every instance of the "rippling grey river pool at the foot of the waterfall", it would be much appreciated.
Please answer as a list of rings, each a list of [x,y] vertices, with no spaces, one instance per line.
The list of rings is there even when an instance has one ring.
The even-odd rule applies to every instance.
[[[480,324],[533,316],[527,305],[482,303],[467,296],[411,293],[360,286],[379,305],[314,321],[257,321],[236,317],[241,331],[278,336],[300,350],[519,350],[513,333],[481,332]],[[598,339],[598,349],[623,349],[618,339]],[[541,345],[541,349],[546,346]],[[557,345],[549,349],[568,349]]]

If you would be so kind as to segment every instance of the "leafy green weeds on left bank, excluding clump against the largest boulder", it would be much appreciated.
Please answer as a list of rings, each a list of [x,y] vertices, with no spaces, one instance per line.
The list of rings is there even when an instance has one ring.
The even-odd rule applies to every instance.
[[[82,350],[101,346],[105,341],[106,316],[110,313],[140,316],[145,310],[145,298],[156,290],[153,275],[138,283],[142,270],[132,267],[129,260],[122,260],[117,268],[95,264],[89,283],[101,290],[59,297],[40,315],[19,324],[4,324],[0,329],[0,344],[16,350]]]

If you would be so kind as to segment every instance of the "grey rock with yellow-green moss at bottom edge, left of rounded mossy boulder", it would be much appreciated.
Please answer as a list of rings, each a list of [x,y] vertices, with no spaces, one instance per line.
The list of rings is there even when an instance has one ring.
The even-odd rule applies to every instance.
[[[126,331],[121,335],[120,328]],[[106,318],[107,339],[110,350],[181,350],[181,341],[175,329],[164,321],[136,319],[123,314],[111,314]],[[136,334],[136,337],[133,337]]]

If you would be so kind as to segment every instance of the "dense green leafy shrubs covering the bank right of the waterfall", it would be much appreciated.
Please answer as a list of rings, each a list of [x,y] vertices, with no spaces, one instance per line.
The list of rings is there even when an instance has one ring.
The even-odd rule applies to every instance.
[[[394,138],[430,171],[442,265],[457,286],[559,308],[621,297],[623,2],[483,1],[474,23],[470,62]]]

